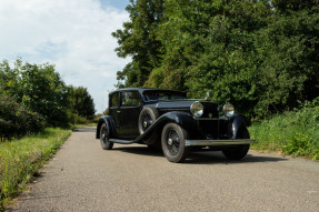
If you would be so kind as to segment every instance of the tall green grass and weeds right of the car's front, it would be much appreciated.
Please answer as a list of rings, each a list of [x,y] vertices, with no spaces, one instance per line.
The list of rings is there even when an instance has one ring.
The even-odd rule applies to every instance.
[[[257,140],[252,149],[319,161],[318,99],[299,111],[285,112],[253,123],[249,133]]]

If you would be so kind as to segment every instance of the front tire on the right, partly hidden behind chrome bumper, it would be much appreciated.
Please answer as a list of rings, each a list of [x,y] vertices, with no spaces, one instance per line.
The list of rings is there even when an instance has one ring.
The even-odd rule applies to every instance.
[[[237,139],[250,139],[249,132],[246,128],[238,132]],[[249,148],[250,144],[242,144],[230,150],[223,150],[222,153],[229,160],[241,160],[247,155]]]

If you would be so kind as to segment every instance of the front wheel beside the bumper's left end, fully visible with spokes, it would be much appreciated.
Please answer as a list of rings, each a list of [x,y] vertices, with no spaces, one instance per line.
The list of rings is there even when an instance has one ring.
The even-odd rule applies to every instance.
[[[161,135],[161,145],[168,161],[181,163],[186,160],[188,149],[186,148],[185,142],[187,138],[187,131],[178,124],[166,124]]]

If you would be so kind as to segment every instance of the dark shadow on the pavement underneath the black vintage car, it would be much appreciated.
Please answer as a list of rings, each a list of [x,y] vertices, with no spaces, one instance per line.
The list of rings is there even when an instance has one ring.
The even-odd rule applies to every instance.
[[[113,148],[114,151],[122,151],[126,153],[131,154],[140,154],[140,155],[147,155],[147,157],[165,157],[162,151],[160,150],[152,150],[148,149],[147,147],[124,147],[124,148]],[[288,159],[285,158],[276,158],[270,155],[252,155],[247,154],[245,159],[241,161],[231,161],[225,158],[225,155],[221,152],[215,152],[215,151],[199,151],[199,152],[190,152],[186,164],[213,164],[213,163],[261,163],[261,162],[279,162],[279,161],[286,161]]]

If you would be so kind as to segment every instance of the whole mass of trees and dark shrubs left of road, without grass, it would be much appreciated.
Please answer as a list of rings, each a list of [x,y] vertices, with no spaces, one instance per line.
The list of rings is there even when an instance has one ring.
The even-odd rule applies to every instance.
[[[0,137],[12,139],[46,125],[67,127],[92,119],[94,103],[86,88],[67,87],[52,64],[0,63]]]

